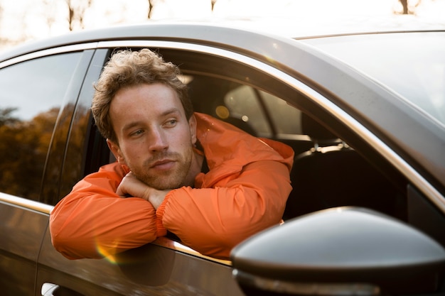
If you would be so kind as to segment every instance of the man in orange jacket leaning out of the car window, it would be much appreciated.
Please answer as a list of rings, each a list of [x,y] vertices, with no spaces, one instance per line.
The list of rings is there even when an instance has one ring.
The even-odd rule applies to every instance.
[[[178,75],[150,50],[116,53],[104,67],[92,114],[117,162],[78,182],[50,214],[63,256],[101,258],[170,231],[228,258],[281,221],[292,149],[193,113]]]

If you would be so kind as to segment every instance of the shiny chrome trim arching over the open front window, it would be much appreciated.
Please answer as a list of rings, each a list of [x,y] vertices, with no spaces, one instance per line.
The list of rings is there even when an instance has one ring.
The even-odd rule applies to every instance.
[[[273,67],[267,63],[267,60],[259,60],[259,58],[250,57],[247,55],[241,55],[234,51],[226,50],[224,48],[215,48],[208,45],[201,45],[195,43],[177,42],[177,41],[165,41],[165,40],[115,40],[115,41],[101,41],[97,45],[98,48],[160,48],[160,49],[181,49],[193,53],[200,53],[205,55],[214,55],[217,57],[223,57],[234,62],[239,62],[242,65],[248,65],[259,72],[267,73],[270,77],[274,78],[278,82],[286,85],[290,89],[294,89],[307,99],[307,102],[311,106],[303,107],[305,111],[308,109],[322,109],[326,111],[326,119],[331,119],[338,123],[338,125],[348,129],[350,133],[353,133],[355,137],[360,138],[360,141],[367,143],[369,148],[375,150],[375,153],[381,155],[390,165],[397,169],[401,175],[409,180],[415,187],[425,194],[428,199],[433,202],[436,207],[439,207],[442,212],[445,212],[445,203],[441,192],[431,185],[412,165],[407,163],[395,150],[392,150],[381,138],[377,137],[368,128],[341,109],[340,106],[334,104],[329,97],[326,97],[325,93],[318,92],[317,89],[310,87],[305,82],[302,82],[298,77],[294,77],[289,73],[279,70],[277,67]],[[267,89],[265,89],[267,91]],[[278,95],[277,97],[281,97]],[[289,98],[286,98],[289,99]],[[300,106],[300,103],[296,99],[289,99],[289,104]],[[311,111],[309,111],[310,113]],[[314,112],[315,113],[315,112]],[[342,138],[348,138],[347,136]],[[348,141],[349,142],[349,141]]]

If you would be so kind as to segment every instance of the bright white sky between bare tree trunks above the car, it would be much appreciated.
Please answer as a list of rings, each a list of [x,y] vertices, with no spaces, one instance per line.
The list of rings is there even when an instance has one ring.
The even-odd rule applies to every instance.
[[[87,29],[147,20],[148,0],[92,1],[92,7],[84,16]],[[0,34],[16,43],[69,32],[65,0],[0,0],[0,5],[3,9]],[[152,18],[279,16],[326,19],[344,15],[385,16],[399,9],[397,0],[218,0],[212,12],[210,0],[158,0]],[[422,0],[417,14],[431,21],[445,22],[445,0]],[[53,15],[51,26],[48,26],[49,15]],[[6,46],[0,44],[0,50]]]

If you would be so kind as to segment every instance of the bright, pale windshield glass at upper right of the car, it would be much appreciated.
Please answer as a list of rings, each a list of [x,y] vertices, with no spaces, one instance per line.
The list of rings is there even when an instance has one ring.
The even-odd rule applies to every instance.
[[[347,35],[304,42],[385,84],[445,126],[445,32]]]

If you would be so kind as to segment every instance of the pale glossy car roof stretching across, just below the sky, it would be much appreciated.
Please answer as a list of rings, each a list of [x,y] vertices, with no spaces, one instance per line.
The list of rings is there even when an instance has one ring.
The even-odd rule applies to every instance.
[[[360,35],[408,31],[445,31],[444,23],[413,16],[353,16],[348,18],[205,18],[146,21],[76,31],[32,40],[0,53],[0,62],[33,51],[104,40],[181,40],[207,45],[236,45],[246,35],[272,39],[307,39],[335,35]],[[243,36],[243,37],[242,37]],[[244,48],[244,46],[240,46]]]

